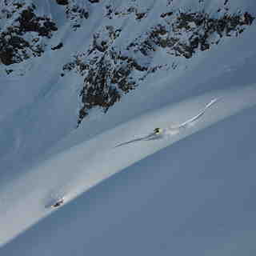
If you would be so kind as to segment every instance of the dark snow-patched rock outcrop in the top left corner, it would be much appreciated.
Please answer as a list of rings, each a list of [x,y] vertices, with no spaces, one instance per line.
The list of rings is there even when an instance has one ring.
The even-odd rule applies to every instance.
[[[21,9],[22,4],[16,5]],[[19,63],[27,58],[41,56],[45,44],[40,38],[51,38],[58,30],[55,23],[47,17],[35,14],[36,6],[27,6],[19,11],[14,25],[8,26],[0,33],[0,60],[4,65]],[[32,32],[36,32],[36,36]],[[27,38],[30,38],[28,40]]]

